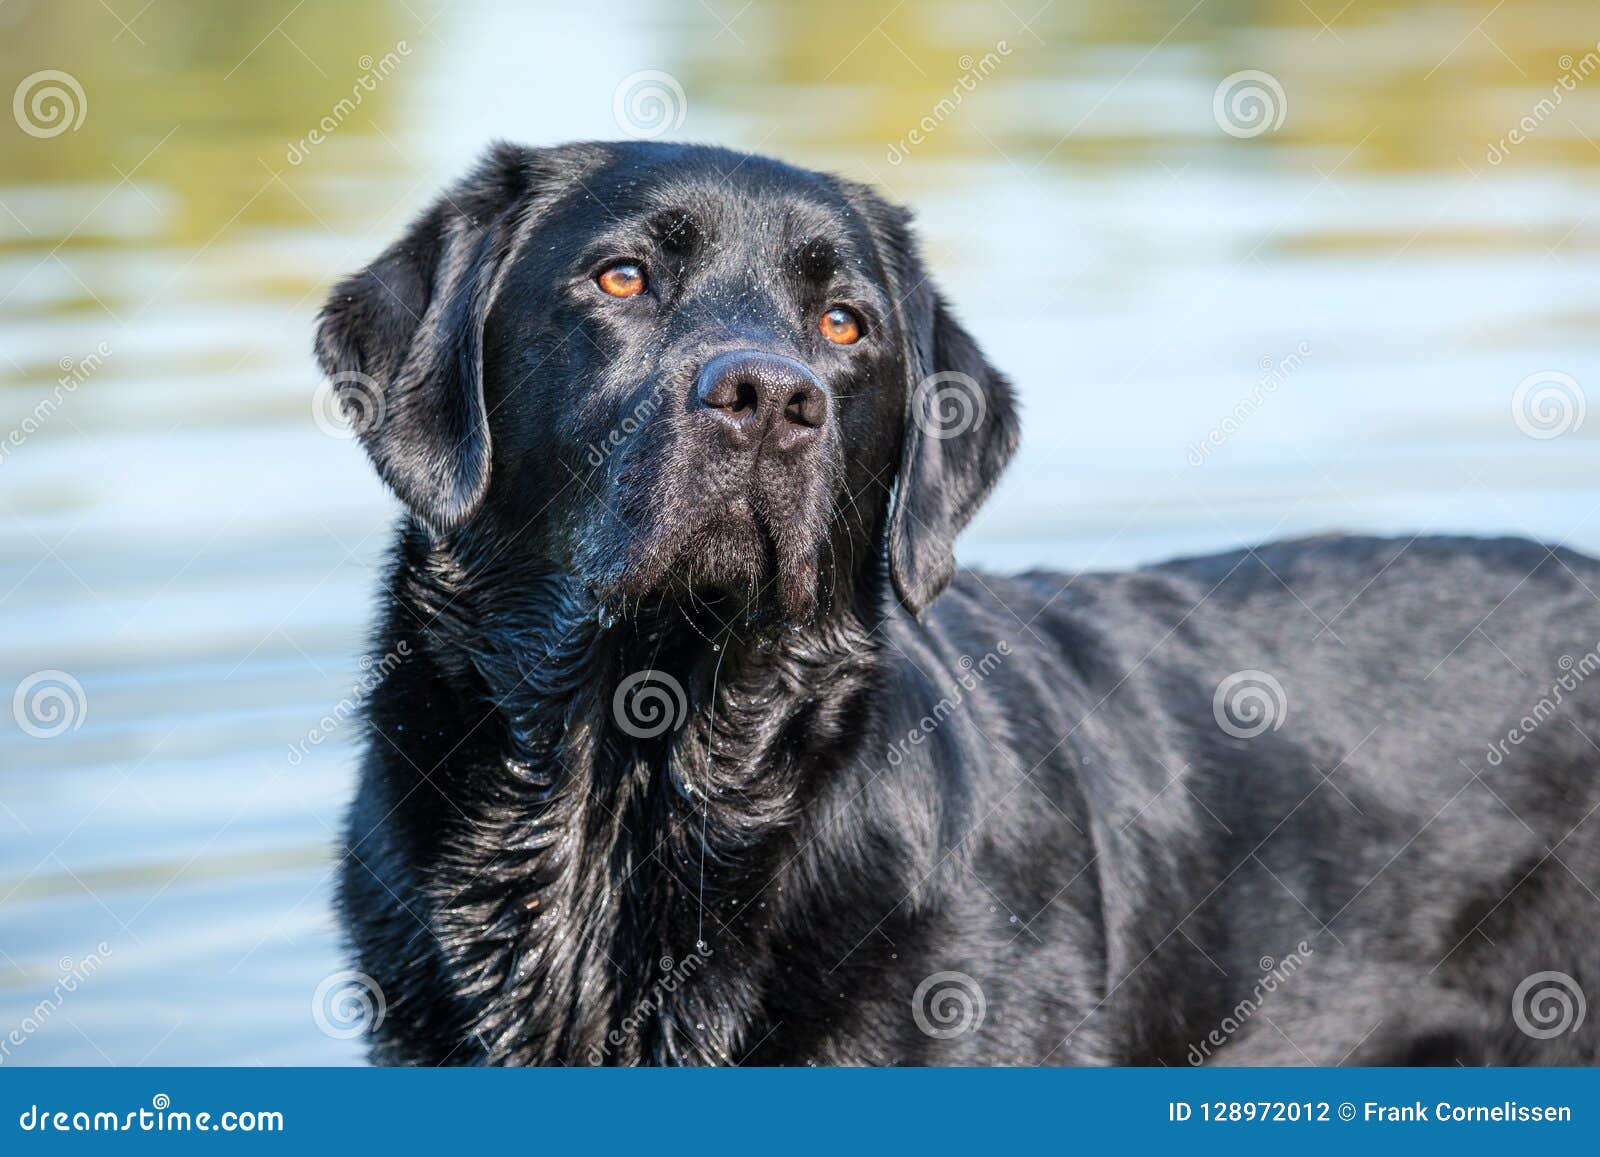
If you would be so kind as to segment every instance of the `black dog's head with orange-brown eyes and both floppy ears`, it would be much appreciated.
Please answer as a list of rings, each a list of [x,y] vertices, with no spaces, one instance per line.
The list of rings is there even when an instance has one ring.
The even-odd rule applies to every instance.
[[[722,149],[496,146],[334,286],[317,354],[430,533],[602,600],[795,621],[886,558],[918,611],[1016,442],[902,210]]]

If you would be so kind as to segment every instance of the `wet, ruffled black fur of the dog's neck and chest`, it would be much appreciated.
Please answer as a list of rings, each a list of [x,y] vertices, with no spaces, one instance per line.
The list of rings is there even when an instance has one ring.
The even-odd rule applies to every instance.
[[[869,632],[667,600],[622,616],[437,546],[398,574],[462,731],[432,773],[434,919],[482,1059],[739,1061],[750,1002],[725,986],[771,967],[763,890],[802,839],[811,755],[859,735]]]

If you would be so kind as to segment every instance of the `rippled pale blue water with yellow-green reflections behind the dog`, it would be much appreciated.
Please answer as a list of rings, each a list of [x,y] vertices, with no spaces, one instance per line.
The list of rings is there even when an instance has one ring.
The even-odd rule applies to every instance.
[[[392,504],[314,421],[312,315],[490,138],[618,136],[638,72],[672,136],[918,208],[1027,406],[970,562],[1600,550],[1586,0],[136,11],[0,6],[0,78],[83,112],[0,120],[0,691],[67,711],[0,711],[0,1063],[358,1059],[312,1015],[354,749],[290,752]],[[1246,69],[1266,123],[1214,99]]]

